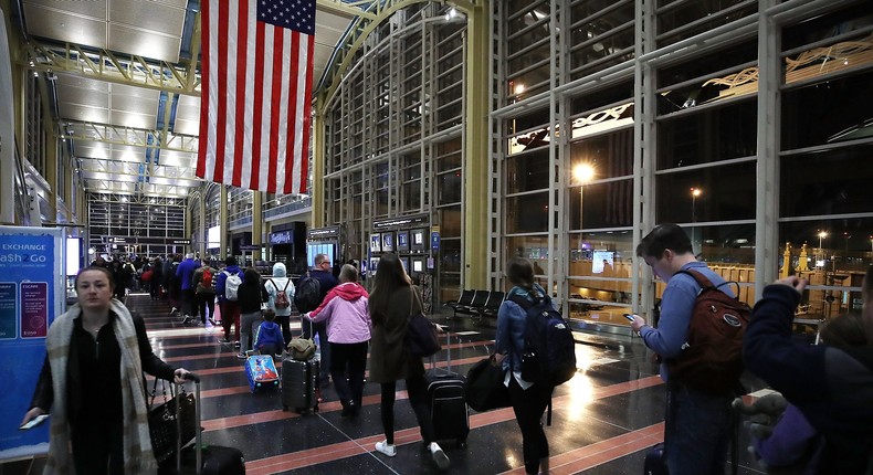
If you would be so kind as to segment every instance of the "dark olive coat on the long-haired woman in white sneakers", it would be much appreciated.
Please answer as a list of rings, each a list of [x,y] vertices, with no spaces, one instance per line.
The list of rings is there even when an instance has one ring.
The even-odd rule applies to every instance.
[[[421,358],[410,356],[406,344],[410,306],[413,312],[421,310],[419,303],[412,302],[413,292],[419,291],[411,286],[397,289],[390,298],[392,305],[381,316],[382,321],[372,326],[369,378],[372,382],[390,382],[424,374]]]

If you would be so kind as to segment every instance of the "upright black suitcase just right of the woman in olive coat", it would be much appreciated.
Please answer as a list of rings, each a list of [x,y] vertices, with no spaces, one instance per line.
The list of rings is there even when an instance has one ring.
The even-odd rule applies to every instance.
[[[433,421],[434,439],[438,441],[455,440],[457,446],[466,446],[470,433],[470,416],[464,399],[464,377],[450,370],[452,353],[449,347],[449,335],[445,336],[446,369],[442,374],[436,372],[434,357],[431,357],[431,371],[428,374],[428,405]]]

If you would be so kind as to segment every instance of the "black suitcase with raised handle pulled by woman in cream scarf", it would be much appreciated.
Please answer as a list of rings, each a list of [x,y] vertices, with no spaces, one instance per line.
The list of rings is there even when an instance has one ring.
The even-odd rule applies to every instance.
[[[194,381],[194,402],[197,428],[201,425],[200,411],[200,377],[190,373]],[[177,388],[177,393],[179,393]],[[178,407],[177,407],[178,408]],[[178,411],[178,409],[177,409]],[[177,416],[178,420],[178,416]],[[170,457],[158,468],[158,475],[240,475],[245,474],[245,458],[239,448],[222,447],[219,445],[203,446],[202,429],[197,431],[193,445],[180,448],[176,456]],[[182,441],[178,442],[178,446]]]

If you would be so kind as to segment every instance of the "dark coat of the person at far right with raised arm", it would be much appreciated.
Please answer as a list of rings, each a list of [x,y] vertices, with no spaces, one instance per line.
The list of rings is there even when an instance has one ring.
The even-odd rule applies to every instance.
[[[746,368],[824,436],[820,474],[860,474],[873,453],[873,348],[810,346],[791,338],[800,299],[793,288],[764,288],[743,338]]]

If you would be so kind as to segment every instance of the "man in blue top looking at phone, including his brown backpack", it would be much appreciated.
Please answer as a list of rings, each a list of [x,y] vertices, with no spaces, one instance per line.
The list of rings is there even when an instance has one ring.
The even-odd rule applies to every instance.
[[[631,328],[662,358],[669,473],[722,475],[749,309],[734,298],[722,276],[695,258],[688,236],[676,224],[652,230],[637,255],[666,282],[658,328],[639,316],[632,317]]]

